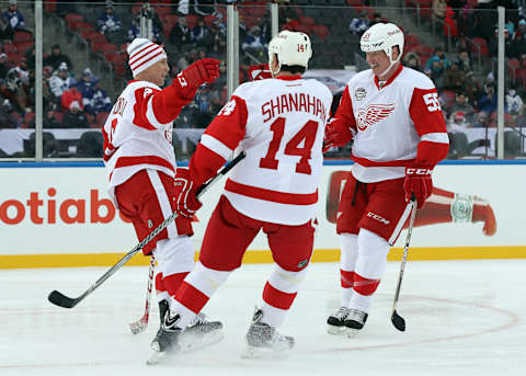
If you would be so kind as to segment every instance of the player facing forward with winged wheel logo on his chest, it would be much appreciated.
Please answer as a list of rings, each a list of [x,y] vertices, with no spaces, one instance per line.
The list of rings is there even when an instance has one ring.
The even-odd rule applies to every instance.
[[[433,82],[402,67],[403,33],[378,23],[362,36],[370,69],[347,83],[327,127],[328,146],[354,139],[351,176],[342,192],[336,232],[341,240],[342,307],[329,332],[359,331],[385,273],[387,253],[410,216],[431,195],[432,171],[448,151],[446,124]]]

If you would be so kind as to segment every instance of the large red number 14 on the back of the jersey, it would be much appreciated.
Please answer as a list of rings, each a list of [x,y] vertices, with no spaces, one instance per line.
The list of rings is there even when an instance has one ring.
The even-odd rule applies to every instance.
[[[260,160],[260,168],[277,170],[277,164],[279,161],[276,159],[276,153],[279,149],[279,144],[282,143],[282,138],[285,133],[285,118],[276,118],[271,125],[271,130],[273,132],[274,136],[268,145],[266,156]],[[317,132],[318,123],[315,121],[309,121],[301,127],[301,129],[299,129],[296,135],[294,135],[293,138],[290,138],[287,145],[285,145],[285,155],[300,157],[299,161],[296,163],[296,172],[298,173],[306,173],[309,175],[311,173],[309,159],[312,145],[315,145]],[[304,140],[304,145],[299,146]]]

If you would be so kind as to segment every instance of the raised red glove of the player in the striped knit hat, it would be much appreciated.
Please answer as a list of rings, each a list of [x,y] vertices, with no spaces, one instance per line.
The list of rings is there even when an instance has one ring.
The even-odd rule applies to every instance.
[[[193,98],[203,83],[211,83],[219,78],[219,60],[205,58],[195,61],[180,72],[175,80],[183,90],[184,96]]]

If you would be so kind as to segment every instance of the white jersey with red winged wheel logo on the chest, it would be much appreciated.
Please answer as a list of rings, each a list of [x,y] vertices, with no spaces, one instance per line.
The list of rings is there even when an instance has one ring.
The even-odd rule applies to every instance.
[[[332,122],[344,122],[353,132],[352,171],[362,182],[402,178],[422,143],[430,149],[449,144],[435,86],[402,66],[384,83],[370,69],[353,76]]]

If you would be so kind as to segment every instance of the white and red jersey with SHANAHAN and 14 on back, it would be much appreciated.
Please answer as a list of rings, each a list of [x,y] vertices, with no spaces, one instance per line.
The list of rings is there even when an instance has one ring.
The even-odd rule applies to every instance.
[[[225,195],[240,213],[263,221],[302,225],[318,202],[330,90],[299,76],[241,84],[207,127],[191,160],[201,184],[232,156]]]

